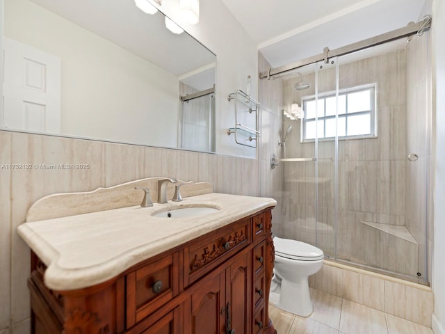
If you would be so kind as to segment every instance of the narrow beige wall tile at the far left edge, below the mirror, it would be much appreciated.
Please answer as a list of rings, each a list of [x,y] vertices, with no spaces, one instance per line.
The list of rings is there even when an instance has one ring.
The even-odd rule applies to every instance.
[[[11,134],[0,131],[0,328],[10,325],[11,317],[11,290],[10,290],[10,177],[14,170],[7,164],[15,164],[10,157],[11,154]],[[4,164],[4,166],[3,166]],[[19,161],[17,161],[19,164]],[[1,332],[0,332],[1,333]]]

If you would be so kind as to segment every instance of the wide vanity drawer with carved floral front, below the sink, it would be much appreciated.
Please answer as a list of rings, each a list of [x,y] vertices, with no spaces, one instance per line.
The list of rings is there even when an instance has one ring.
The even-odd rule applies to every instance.
[[[184,249],[184,287],[250,243],[250,219],[204,237]]]

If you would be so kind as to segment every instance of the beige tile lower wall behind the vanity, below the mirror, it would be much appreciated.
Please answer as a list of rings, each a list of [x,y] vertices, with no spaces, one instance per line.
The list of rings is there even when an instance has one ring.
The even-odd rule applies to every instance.
[[[16,232],[35,200],[144,177],[208,181],[213,190],[259,195],[257,159],[0,131],[0,334],[29,333],[30,250]],[[83,170],[6,164],[88,164]]]

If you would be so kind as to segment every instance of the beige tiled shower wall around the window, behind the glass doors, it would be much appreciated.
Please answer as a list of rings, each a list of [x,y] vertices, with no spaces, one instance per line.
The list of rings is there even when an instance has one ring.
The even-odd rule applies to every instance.
[[[339,141],[337,255],[341,260],[416,277],[416,272],[425,264],[425,253],[423,252],[423,258],[419,257],[419,249],[424,242],[420,241],[417,247],[416,244],[410,244],[361,222],[403,226],[406,214],[424,216],[423,207],[423,212],[416,214],[405,211],[407,207],[412,207],[412,210],[419,208],[418,203],[409,200],[407,186],[410,184],[407,182],[416,180],[419,187],[426,186],[425,173],[417,171],[414,178],[407,175],[407,138],[412,136],[411,129],[407,129],[407,121],[412,122],[413,127],[419,127],[418,122],[407,119],[407,102],[413,103],[411,100],[407,101],[407,95],[410,99],[416,98],[417,104],[412,107],[414,109],[419,104],[425,108],[426,102],[419,100],[416,94],[407,94],[405,50],[391,51],[353,63],[343,64],[341,61],[340,58],[339,88],[373,82],[378,84],[378,138]],[[416,68],[416,72],[426,71],[421,63]],[[323,79],[319,81],[319,91],[334,90],[333,68],[323,70],[319,74],[318,79],[320,78]],[[314,94],[314,75],[305,74],[305,80],[313,83],[308,90],[293,90],[293,85],[299,79],[297,77],[284,81],[284,109],[290,109],[292,102],[300,103],[300,94]],[[412,92],[412,89],[408,91]],[[284,128],[289,125],[293,126],[293,132],[286,143],[286,157],[314,157],[314,143],[300,143],[300,121],[286,119]],[[425,132],[419,134],[422,135],[424,138]],[[414,141],[416,145],[423,144],[416,139]],[[283,166],[284,203],[279,202],[277,207],[284,206],[282,213],[285,215],[277,221],[278,226],[275,229],[278,236],[316,244],[324,250],[325,255],[331,257],[334,256],[336,243],[334,154],[333,141],[318,142],[317,184],[314,183],[314,162],[286,163]],[[316,186],[318,207],[314,201]],[[425,194],[425,190],[422,193]],[[419,193],[416,196],[419,198]],[[317,227],[317,236],[314,232],[315,217],[317,224],[320,224]],[[419,231],[417,234],[411,231],[414,237],[425,235],[424,222],[425,220],[415,222]],[[409,230],[412,225],[406,223]],[[325,228],[325,231],[321,231],[321,228]]]

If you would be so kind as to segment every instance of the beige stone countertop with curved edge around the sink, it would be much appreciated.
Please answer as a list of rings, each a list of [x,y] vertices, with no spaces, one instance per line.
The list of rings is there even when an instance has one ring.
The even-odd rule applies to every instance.
[[[272,198],[207,193],[184,198],[182,202],[154,203],[153,207],[123,207],[22,223],[17,231],[47,266],[47,287],[81,289],[276,204]],[[190,206],[220,210],[189,218],[151,216],[154,212]]]

